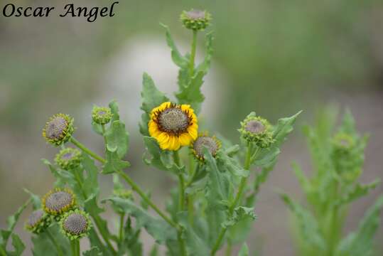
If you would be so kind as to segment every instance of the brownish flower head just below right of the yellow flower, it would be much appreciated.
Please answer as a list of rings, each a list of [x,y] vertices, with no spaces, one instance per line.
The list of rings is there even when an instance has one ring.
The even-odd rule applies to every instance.
[[[199,134],[198,138],[193,142],[192,151],[195,157],[203,161],[205,148],[210,151],[212,156],[216,156],[220,147],[221,142],[215,136],[210,137],[207,134]]]

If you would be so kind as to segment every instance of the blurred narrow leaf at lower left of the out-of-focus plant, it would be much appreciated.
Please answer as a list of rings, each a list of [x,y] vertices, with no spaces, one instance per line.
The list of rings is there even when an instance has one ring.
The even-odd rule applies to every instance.
[[[305,239],[305,243],[309,245],[312,250],[318,250],[318,255],[320,255],[320,252],[325,251],[326,244],[322,235],[320,235],[318,223],[313,215],[303,208],[303,206],[292,201],[285,193],[282,193],[280,196],[296,217],[299,232],[301,233],[300,237]]]

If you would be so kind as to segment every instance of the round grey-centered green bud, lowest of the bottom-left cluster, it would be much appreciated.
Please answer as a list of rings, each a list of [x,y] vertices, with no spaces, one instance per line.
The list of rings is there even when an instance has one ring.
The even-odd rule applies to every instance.
[[[80,239],[89,235],[92,222],[83,210],[70,210],[60,219],[60,228],[70,240]]]

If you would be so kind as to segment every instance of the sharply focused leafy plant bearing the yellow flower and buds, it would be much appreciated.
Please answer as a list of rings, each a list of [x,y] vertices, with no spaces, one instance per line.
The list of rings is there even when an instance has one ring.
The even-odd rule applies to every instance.
[[[92,128],[104,141],[104,156],[75,139],[70,115],[55,114],[43,129],[46,141],[60,147],[54,164],[43,160],[56,178],[53,190],[42,198],[27,191],[31,199],[9,218],[9,228],[1,230],[0,255],[22,254],[25,246],[13,231],[28,203],[33,205],[26,223],[33,233],[33,255],[80,255],[81,238],[90,242],[82,255],[143,255],[142,229],[156,240],[151,255],[158,254],[158,245],[167,248],[167,255],[215,255],[226,242],[227,255],[238,243],[243,244],[239,255],[249,255],[244,241],[257,218],[254,206],[259,188],[274,169],[299,113],[279,119],[276,125],[250,113],[239,129],[240,145],[214,132],[198,132],[205,100],[200,88],[210,68],[212,32],[205,35],[202,63],[195,63],[195,53],[198,33],[210,25],[211,16],[207,11],[184,11],[181,21],[193,32],[190,53],[185,55],[162,25],[171,58],[179,68],[175,100],[160,92],[146,73],[141,92],[144,162],[178,180],[166,210],[156,206],[150,194],[124,172],[130,166],[125,160],[129,133],[119,118],[117,102],[95,106],[91,114]],[[70,143],[77,149],[68,147]],[[252,175],[255,168],[259,171]],[[114,183],[110,196],[102,200],[99,175],[111,176]],[[110,218],[102,216],[108,206],[119,220],[118,230],[111,230]],[[7,247],[9,238],[13,251]]]

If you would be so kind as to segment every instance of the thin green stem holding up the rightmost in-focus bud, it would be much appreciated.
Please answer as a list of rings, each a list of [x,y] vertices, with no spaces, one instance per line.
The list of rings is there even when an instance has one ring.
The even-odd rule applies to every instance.
[[[246,159],[244,160],[244,169],[245,170],[249,170],[250,169],[250,165],[252,164],[252,161],[251,161],[251,159],[252,159],[252,150],[253,150],[253,145],[250,143],[247,146]],[[258,151],[259,151],[259,149],[257,149],[257,151],[254,153],[254,155],[257,154]],[[242,177],[241,181],[239,183],[239,188],[238,188],[237,195],[235,196],[234,201],[232,202],[232,204],[229,207],[229,215],[230,216],[232,215],[235,206],[237,206],[237,204],[239,202],[239,199],[242,196],[244,188],[246,187],[246,183],[247,183],[247,177]],[[212,256],[215,255],[217,250],[220,248],[222,239],[225,237],[226,230],[227,230],[226,227],[221,229],[220,235],[218,236],[217,241],[215,242],[215,245],[212,248],[212,252],[210,253],[210,255],[212,255]]]

